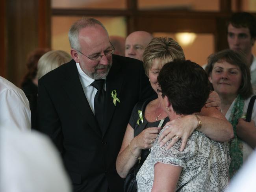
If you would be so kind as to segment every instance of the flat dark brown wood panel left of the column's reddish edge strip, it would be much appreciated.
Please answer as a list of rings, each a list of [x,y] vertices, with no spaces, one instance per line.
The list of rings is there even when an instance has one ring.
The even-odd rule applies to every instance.
[[[33,0],[7,1],[7,78],[16,85],[26,72],[27,54],[38,46],[36,7]]]

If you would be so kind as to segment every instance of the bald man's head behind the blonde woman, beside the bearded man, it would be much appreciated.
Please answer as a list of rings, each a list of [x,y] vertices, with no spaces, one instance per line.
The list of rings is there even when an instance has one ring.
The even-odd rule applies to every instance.
[[[147,31],[134,31],[130,33],[125,41],[125,56],[142,61],[143,52],[151,39],[153,39],[153,35]]]

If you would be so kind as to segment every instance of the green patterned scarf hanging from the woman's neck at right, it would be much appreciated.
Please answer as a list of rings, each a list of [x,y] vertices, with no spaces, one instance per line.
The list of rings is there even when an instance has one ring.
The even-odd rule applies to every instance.
[[[239,138],[237,138],[236,135],[236,125],[238,123],[238,119],[243,115],[243,105],[244,100],[239,94],[236,98],[234,107],[228,120],[232,124],[234,130],[234,138],[228,143],[231,158],[229,166],[230,179],[234,176],[234,174],[236,174],[237,170],[243,164],[243,143]]]

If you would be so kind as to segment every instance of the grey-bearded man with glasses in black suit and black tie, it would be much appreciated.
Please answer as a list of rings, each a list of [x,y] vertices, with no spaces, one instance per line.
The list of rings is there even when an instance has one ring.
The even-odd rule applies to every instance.
[[[112,55],[98,20],[75,22],[69,41],[73,59],[39,79],[39,130],[58,147],[74,191],[120,192],[115,161],[122,138],[135,103],[153,89],[141,61]],[[104,79],[104,90],[95,79]]]

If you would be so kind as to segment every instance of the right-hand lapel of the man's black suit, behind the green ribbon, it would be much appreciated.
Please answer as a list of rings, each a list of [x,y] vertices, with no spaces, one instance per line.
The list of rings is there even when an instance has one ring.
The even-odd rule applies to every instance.
[[[117,63],[117,61],[113,58],[113,65],[107,76],[106,102],[105,102],[105,111],[104,111],[105,132],[103,133],[103,135],[106,133],[106,130],[108,129],[108,126],[112,120],[115,109],[118,107],[118,105],[120,105],[120,103],[122,103],[122,101],[120,100],[120,103],[116,102],[116,105],[114,105],[113,98],[111,97],[111,92],[113,90],[116,90],[117,98],[119,98],[122,91],[123,76],[120,75],[122,74],[120,72],[120,69],[121,69],[120,65],[121,64]]]

